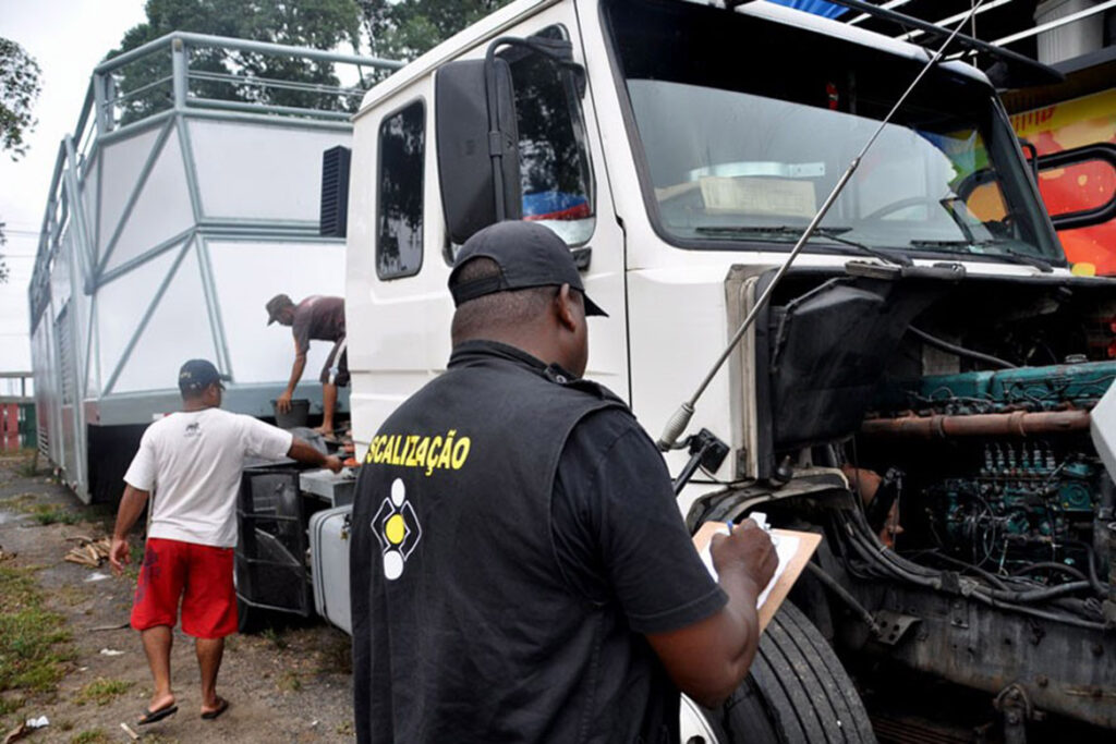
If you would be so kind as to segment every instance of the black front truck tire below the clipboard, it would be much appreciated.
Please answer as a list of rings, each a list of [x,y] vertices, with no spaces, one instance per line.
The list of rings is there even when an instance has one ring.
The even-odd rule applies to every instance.
[[[760,636],[743,684],[705,711],[718,744],[874,744],[864,703],[833,648],[785,602]],[[712,743],[710,743],[712,744]]]

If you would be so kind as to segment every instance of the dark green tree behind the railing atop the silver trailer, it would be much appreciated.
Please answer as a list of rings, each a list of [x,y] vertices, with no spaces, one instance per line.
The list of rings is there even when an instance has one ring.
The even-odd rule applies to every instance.
[[[171,31],[193,31],[315,49],[359,45],[360,16],[355,0],[147,0],[147,21],[129,29],[116,57]],[[190,94],[300,108],[345,109],[346,104],[312,86],[337,86],[330,62],[290,59],[249,51],[191,48]],[[170,54],[135,60],[117,73],[122,123],[169,108],[172,100]],[[235,79],[228,76],[235,75]],[[273,81],[279,81],[275,85]],[[294,84],[294,85],[291,85]]]

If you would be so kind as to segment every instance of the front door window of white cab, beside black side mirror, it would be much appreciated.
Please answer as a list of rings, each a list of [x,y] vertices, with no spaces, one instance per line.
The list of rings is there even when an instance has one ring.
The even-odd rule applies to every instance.
[[[551,26],[538,36],[566,38]],[[522,49],[501,54],[511,68],[519,127],[519,177],[523,219],[554,230],[567,244],[593,234],[593,172],[581,104],[574,76]]]

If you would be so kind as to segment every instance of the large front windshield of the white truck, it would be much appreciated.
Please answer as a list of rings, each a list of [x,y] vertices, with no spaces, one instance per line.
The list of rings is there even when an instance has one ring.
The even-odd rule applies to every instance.
[[[792,243],[923,62],[681,2],[608,26],[661,232],[689,248]],[[923,79],[811,244],[1064,261],[992,89]]]

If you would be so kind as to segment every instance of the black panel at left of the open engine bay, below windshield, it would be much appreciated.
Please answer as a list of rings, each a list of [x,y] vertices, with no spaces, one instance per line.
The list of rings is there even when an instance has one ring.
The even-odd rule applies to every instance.
[[[918,279],[843,277],[773,307],[775,448],[850,436],[911,320],[947,291]]]

